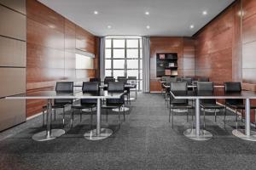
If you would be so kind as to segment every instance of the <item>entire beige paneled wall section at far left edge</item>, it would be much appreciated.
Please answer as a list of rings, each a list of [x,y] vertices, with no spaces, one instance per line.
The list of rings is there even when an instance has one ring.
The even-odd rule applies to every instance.
[[[0,131],[26,122],[26,0],[0,0]]]

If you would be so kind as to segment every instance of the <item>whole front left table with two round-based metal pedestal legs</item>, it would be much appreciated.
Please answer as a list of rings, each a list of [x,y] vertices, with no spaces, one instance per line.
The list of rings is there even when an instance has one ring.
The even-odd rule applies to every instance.
[[[83,93],[75,91],[73,93],[56,93],[55,91],[38,91],[26,94],[18,94],[5,97],[5,99],[46,99],[47,100],[47,125],[46,130],[35,133],[32,139],[36,141],[45,141],[55,139],[65,134],[63,129],[51,128],[52,103],[54,99],[97,99],[96,105],[96,129],[84,133],[85,139],[100,140],[108,138],[113,131],[108,128],[101,127],[101,100],[102,99],[119,99],[124,93],[108,93],[100,90],[98,93]]]

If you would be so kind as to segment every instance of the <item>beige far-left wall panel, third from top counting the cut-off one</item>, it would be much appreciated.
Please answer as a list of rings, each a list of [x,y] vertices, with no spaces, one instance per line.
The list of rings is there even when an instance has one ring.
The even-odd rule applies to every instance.
[[[26,67],[26,42],[0,37],[0,66]]]

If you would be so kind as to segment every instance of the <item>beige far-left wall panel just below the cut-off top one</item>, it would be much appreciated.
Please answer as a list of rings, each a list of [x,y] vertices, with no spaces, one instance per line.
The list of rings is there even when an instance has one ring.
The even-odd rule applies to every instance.
[[[26,15],[0,5],[0,36],[26,41]]]

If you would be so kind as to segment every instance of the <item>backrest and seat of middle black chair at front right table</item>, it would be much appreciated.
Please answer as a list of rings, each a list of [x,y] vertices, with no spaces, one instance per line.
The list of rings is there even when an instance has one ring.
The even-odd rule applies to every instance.
[[[213,82],[197,82],[197,94],[213,94]],[[216,104],[216,99],[201,99],[202,104]]]

